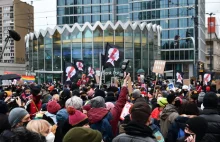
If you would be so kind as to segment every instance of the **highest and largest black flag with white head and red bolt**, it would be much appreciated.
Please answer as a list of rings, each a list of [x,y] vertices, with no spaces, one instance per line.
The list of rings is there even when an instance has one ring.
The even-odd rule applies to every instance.
[[[109,66],[115,67],[115,62],[120,58],[119,48],[109,43],[105,47],[105,55],[102,55],[102,66],[105,68]]]

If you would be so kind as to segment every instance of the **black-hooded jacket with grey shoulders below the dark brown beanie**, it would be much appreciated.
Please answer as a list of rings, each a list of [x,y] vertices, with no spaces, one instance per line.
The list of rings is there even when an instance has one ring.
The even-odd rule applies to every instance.
[[[146,125],[131,121],[124,130],[125,134],[118,135],[112,142],[156,142],[153,131]]]

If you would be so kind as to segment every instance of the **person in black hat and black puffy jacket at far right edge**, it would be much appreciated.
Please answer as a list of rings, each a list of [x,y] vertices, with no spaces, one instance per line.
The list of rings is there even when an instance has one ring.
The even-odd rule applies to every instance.
[[[205,142],[220,142],[220,115],[218,115],[218,97],[214,92],[208,92],[203,99],[204,110],[201,117],[208,122],[207,132],[202,140]]]

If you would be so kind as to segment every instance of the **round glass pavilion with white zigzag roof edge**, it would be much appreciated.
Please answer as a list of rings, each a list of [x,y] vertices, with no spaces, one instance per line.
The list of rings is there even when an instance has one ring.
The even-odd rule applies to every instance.
[[[129,59],[128,71],[135,80],[138,69],[143,68],[151,74],[155,59],[160,59],[159,25],[146,22],[112,23],[94,25],[74,24],[72,28],[65,25],[62,28],[41,30],[26,35],[26,46],[29,48],[29,68],[36,73],[38,83],[51,82],[54,79],[62,81],[63,65],[75,59],[84,61],[84,66],[100,69],[99,54],[104,53],[107,42],[117,45],[121,51],[120,59],[115,68],[107,68],[105,79],[109,81],[120,72],[124,59]]]

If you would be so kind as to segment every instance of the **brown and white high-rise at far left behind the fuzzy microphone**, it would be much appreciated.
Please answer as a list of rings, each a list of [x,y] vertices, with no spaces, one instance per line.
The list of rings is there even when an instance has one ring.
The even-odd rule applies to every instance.
[[[8,30],[15,30],[20,34],[21,40],[10,39],[1,62],[25,63],[24,36],[34,31],[33,6],[20,0],[1,0],[0,2],[0,54],[8,36]]]

